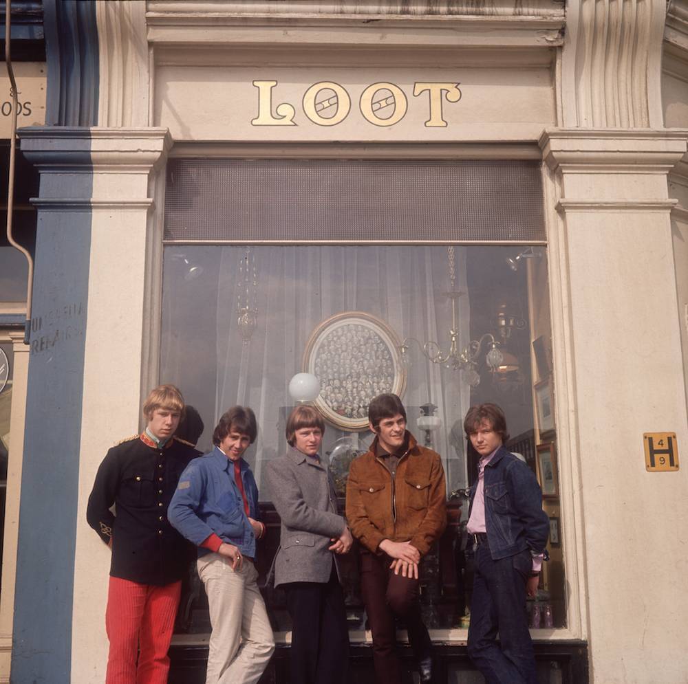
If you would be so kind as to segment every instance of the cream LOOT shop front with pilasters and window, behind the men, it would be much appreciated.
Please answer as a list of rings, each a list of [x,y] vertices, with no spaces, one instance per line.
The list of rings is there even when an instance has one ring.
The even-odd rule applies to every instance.
[[[103,681],[109,551],[85,507],[160,382],[200,413],[204,451],[226,408],[256,411],[269,565],[264,470],[300,372],[341,494],[380,392],[442,455],[450,525],[422,606],[447,681],[480,681],[462,419],[482,401],[505,409],[550,518],[528,606],[543,681],[684,681],[685,5],[48,5],[45,126],[19,134],[40,191],[12,389],[12,681]],[[171,681],[204,657],[196,588]],[[345,591],[367,681],[355,562]],[[282,681],[290,624],[266,597]]]

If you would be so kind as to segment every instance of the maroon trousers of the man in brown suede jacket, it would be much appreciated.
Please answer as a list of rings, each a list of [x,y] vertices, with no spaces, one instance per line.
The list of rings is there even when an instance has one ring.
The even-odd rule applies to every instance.
[[[396,653],[396,622],[405,623],[409,643],[417,660],[431,654],[432,643],[423,624],[418,601],[418,580],[395,575],[388,555],[361,554],[361,593],[373,633],[373,664],[378,684],[402,681]]]

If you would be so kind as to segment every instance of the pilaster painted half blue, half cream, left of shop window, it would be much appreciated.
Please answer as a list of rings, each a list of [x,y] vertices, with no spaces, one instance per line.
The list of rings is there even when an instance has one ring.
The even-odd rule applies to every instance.
[[[21,132],[22,152],[41,173],[27,399],[27,424],[41,430],[25,439],[17,681],[105,676],[109,551],[87,527],[85,506],[114,436],[138,430],[155,374],[151,307],[159,310],[170,145],[166,129]],[[32,531],[48,520],[55,536],[36,544]],[[36,620],[54,595],[56,619]],[[45,655],[26,657],[40,649]]]

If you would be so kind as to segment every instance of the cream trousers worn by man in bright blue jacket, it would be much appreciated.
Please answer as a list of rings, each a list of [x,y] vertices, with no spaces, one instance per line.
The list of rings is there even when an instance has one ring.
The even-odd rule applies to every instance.
[[[208,553],[196,567],[213,628],[206,684],[255,684],[275,650],[255,565],[244,558],[235,571],[224,556]]]

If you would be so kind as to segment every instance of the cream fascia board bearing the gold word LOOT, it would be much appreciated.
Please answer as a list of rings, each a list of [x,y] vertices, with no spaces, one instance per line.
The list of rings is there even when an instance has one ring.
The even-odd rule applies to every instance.
[[[155,69],[175,141],[535,142],[556,124],[549,65],[197,65]]]

